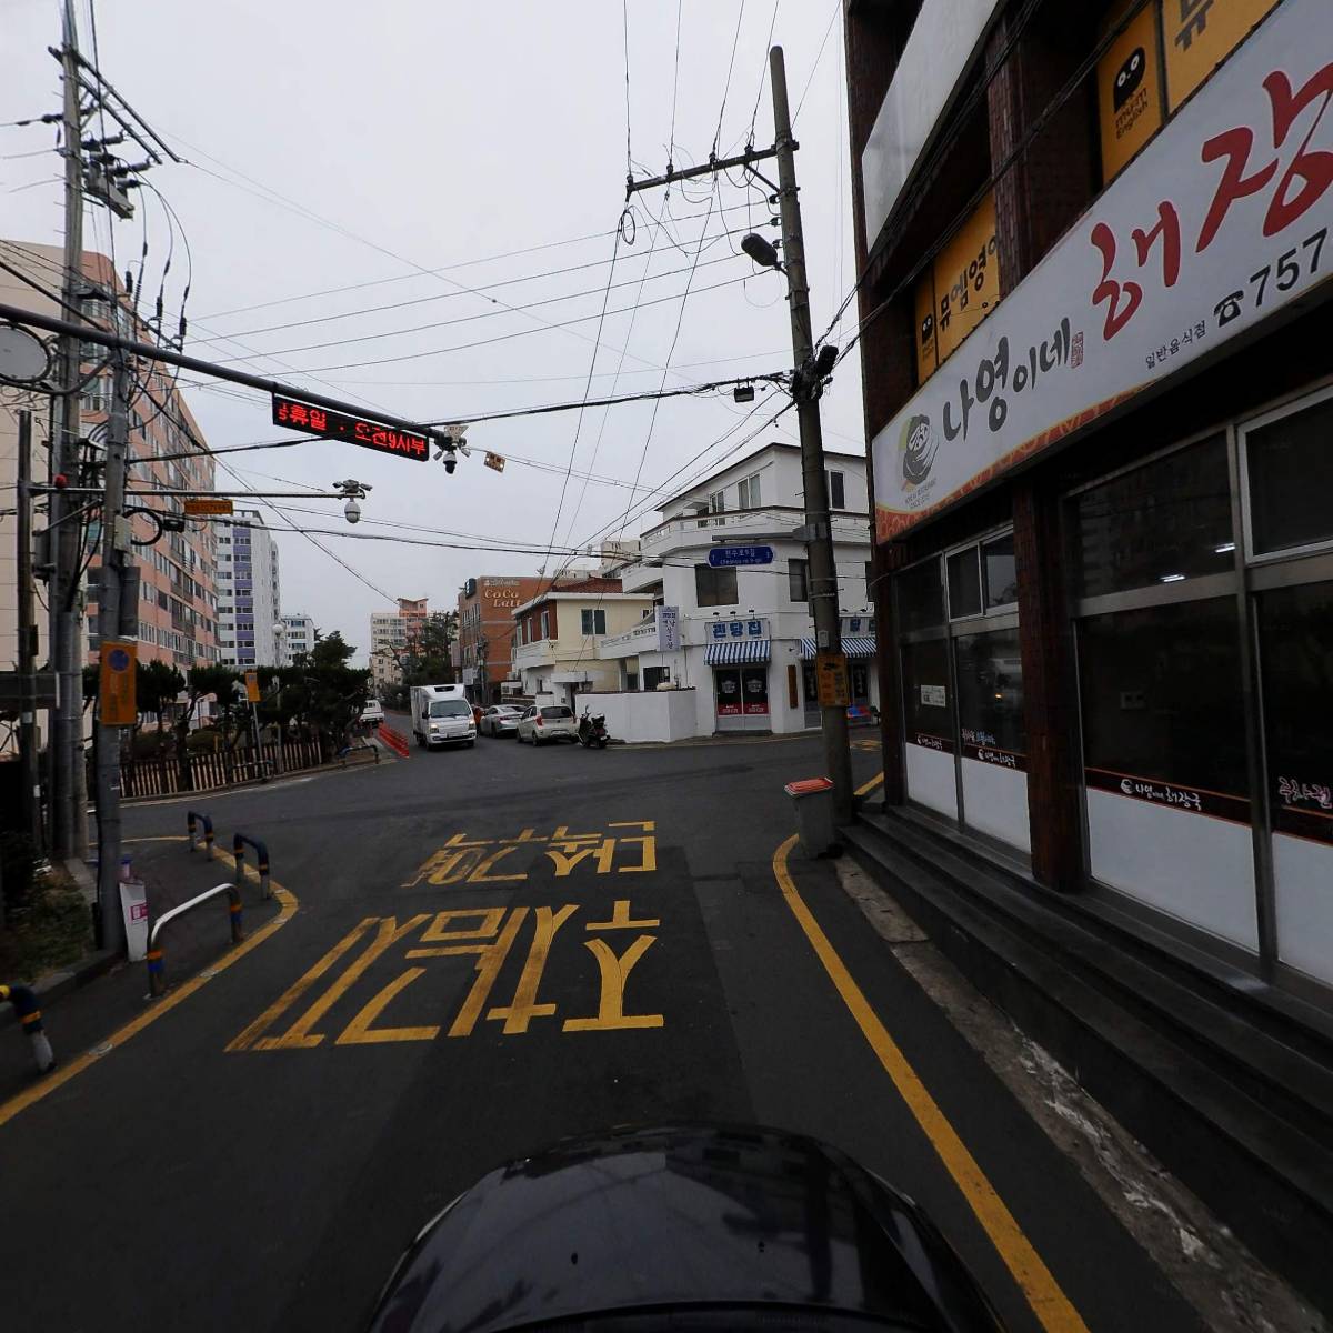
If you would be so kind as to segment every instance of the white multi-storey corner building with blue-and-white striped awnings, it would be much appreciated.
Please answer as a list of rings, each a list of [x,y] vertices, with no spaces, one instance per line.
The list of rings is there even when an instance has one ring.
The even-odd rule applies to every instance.
[[[825,459],[852,704],[869,716],[878,686],[865,459]],[[620,690],[597,700],[612,734],[676,740],[818,726],[806,551],[797,536],[805,521],[800,449],[768,444],[660,508],[661,521],[640,536],[640,561],[621,571],[625,592],[651,595],[656,611],[597,648],[619,664]],[[728,564],[721,552],[737,547],[748,551],[736,557],[764,563]]]

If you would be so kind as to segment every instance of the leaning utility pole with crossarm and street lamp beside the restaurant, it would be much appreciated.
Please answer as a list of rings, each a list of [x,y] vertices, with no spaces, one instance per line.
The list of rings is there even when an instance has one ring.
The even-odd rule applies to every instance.
[[[706,176],[730,167],[741,167],[757,176],[774,192],[770,203],[778,205],[782,225],[782,256],[762,236],[746,236],[744,249],[756,263],[786,272],[786,300],[792,312],[792,353],[796,361],[792,376],[792,397],[796,400],[801,429],[801,477],[805,489],[805,549],[809,557],[810,605],[814,616],[814,639],[821,653],[842,656],[842,621],[838,616],[837,561],[833,556],[833,524],[829,513],[828,477],[824,472],[824,432],[820,428],[820,393],[822,381],[832,373],[837,349],[825,347],[814,356],[814,333],[810,325],[810,288],[805,279],[805,241],[801,233],[801,204],[796,185],[796,149],[792,137],[792,115],[786,100],[786,67],[782,48],[772,47],[768,53],[769,81],[773,85],[772,148],[746,148],[738,157],[712,159],[700,167],[681,171],[669,169],[651,180],[633,177],[627,183],[627,193],[669,185],[692,176]],[[777,159],[777,185],[754,169],[754,163]],[[828,353],[833,353],[828,357]],[[846,659],[842,657],[845,678]],[[824,762],[833,781],[833,808],[838,824],[850,824],[856,809],[852,792],[852,756],[846,741],[845,702],[820,708],[824,730]]]

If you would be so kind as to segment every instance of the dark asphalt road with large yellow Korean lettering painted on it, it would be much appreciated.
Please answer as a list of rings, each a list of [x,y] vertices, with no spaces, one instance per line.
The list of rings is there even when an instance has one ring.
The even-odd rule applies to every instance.
[[[873,750],[854,760],[874,774]],[[840,993],[773,865],[782,784],[817,770],[812,738],[483,738],[189,802],[227,838],[264,837],[299,905],[251,912],[260,942],[139,1030],[113,1036],[163,1001],[128,970],[55,1005],[63,1068],[112,1042],[47,1096],[31,1100],[20,1034],[0,1033],[7,1322],[357,1329],[416,1229],[492,1166],[568,1133],[704,1118],[852,1153],[932,1214],[1014,1329],[1198,1328],[832,865],[793,854],[865,1010]],[[185,808],[137,806],[127,836],[179,836]],[[211,874],[179,844],[136,846],[155,873]],[[209,962],[173,961],[177,996],[184,961]],[[948,1134],[922,1129],[866,1014]],[[1004,1253],[949,1134],[1012,1220]],[[1014,1246],[1037,1277],[1016,1277]]]

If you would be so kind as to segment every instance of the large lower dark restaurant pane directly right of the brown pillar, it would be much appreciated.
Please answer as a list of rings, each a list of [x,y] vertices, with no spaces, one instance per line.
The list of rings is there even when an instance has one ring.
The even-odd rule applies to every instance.
[[[1112,789],[1132,778],[1174,782],[1220,796],[1225,808],[1206,813],[1248,818],[1238,653],[1230,597],[1081,621],[1089,781],[1096,774],[1096,785]]]

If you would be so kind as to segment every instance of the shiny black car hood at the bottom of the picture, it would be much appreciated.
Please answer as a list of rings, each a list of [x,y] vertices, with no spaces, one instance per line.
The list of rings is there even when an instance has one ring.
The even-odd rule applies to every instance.
[[[567,1140],[491,1172],[417,1237],[372,1329],[492,1333],[682,1306],[998,1328],[929,1222],[836,1149],[674,1126]]]

